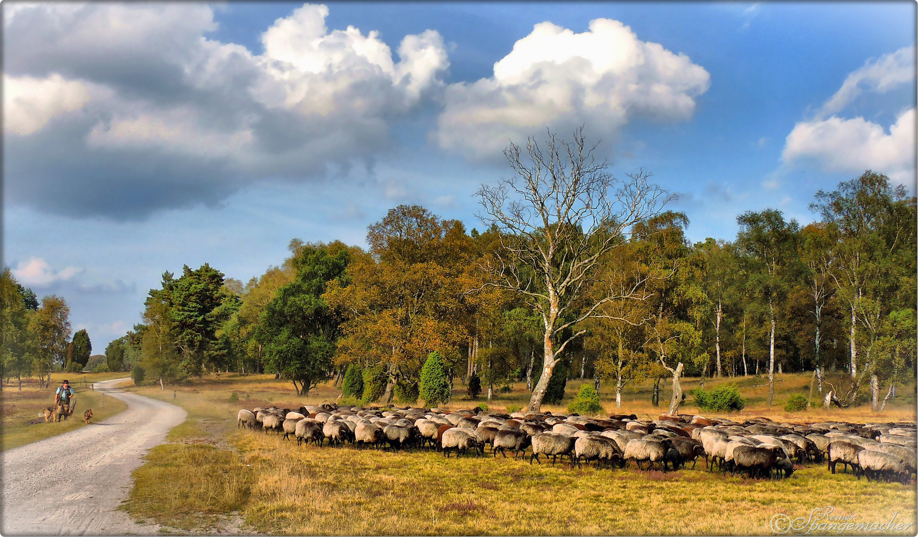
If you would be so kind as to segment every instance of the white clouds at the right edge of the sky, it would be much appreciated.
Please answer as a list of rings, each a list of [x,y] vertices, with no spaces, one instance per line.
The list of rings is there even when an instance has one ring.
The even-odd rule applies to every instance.
[[[913,46],[899,49],[851,72],[812,119],[794,126],[781,158],[829,172],[874,170],[893,181],[914,185],[915,108],[901,110],[888,129],[863,117],[838,115],[862,93],[882,94],[903,84],[913,85],[914,53]]]

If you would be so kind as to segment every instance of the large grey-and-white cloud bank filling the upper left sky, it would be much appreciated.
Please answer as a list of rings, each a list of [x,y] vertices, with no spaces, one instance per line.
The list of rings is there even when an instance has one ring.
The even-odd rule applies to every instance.
[[[143,218],[347,169],[449,66],[436,31],[396,61],[375,31],[329,30],[325,5],[277,19],[260,56],[207,38],[207,5],[4,10],[6,194],[56,214]]]

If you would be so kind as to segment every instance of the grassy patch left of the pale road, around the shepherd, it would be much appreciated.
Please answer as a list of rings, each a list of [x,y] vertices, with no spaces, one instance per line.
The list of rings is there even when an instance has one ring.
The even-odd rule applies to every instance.
[[[93,409],[93,422],[101,422],[118,412],[126,411],[128,405],[125,403],[90,388],[93,382],[126,375],[127,373],[54,373],[51,375],[49,387],[45,389],[39,388],[39,381],[35,378],[23,378],[21,390],[16,382],[4,385],[3,392],[0,393],[3,420],[0,428],[0,451],[84,427],[83,412],[86,409]],[[41,410],[54,404],[54,390],[61,385],[63,378],[71,381],[71,387],[76,394],[76,409],[67,421],[46,423]]]

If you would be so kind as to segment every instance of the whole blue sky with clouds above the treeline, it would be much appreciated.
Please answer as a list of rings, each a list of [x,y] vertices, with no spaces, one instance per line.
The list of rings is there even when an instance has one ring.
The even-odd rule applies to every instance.
[[[915,192],[916,3],[20,3],[3,13],[3,264],[94,353],[165,271],[257,277],[419,203],[482,227],[503,149],[579,126],[693,241]]]

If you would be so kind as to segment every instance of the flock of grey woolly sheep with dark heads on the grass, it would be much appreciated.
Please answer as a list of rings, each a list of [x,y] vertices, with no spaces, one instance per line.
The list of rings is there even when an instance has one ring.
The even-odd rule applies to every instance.
[[[355,444],[393,450],[431,446],[449,457],[468,452],[514,458],[531,448],[530,464],[541,457],[567,456],[571,467],[594,461],[597,466],[639,469],[656,466],[666,472],[703,457],[711,471],[749,477],[790,477],[796,464],[827,461],[835,473],[842,463],[860,478],[907,482],[915,473],[914,423],[823,422],[776,423],[753,418],[743,423],[724,418],[663,414],[640,421],[635,415],[608,419],[552,412],[440,411],[439,409],[362,409],[305,406],[297,409],[241,410],[240,427],[293,435],[297,445]]]

